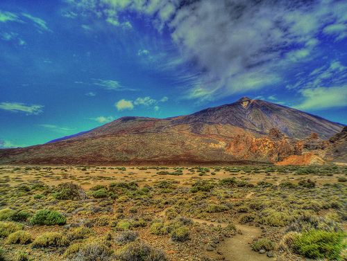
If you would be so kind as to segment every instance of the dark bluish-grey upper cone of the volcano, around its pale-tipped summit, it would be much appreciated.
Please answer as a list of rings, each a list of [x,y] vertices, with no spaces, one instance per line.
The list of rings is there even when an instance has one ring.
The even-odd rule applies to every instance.
[[[179,124],[199,122],[230,124],[260,134],[268,134],[270,129],[276,128],[295,139],[305,138],[311,132],[316,132],[320,138],[325,139],[337,134],[344,127],[297,109],[247,97],[230,105],[204,109],[174,120],[174,123]]]

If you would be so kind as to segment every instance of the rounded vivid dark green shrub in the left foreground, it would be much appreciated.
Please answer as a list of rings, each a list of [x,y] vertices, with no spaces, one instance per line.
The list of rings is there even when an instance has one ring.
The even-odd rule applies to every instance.
[[[37,211],[35,215],[30,219],[30,223],[32,225],[46,225],[46,226],[54,226],[54,225],[64,225],[66,223],[66,217],[60,214],[56,210],[47,210],[42,209]]]

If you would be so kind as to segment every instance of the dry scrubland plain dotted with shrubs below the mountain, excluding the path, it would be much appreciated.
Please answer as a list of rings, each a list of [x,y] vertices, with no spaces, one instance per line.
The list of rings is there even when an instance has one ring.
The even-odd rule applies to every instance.
[[[239,251],[259,258],[347,260],[346,178],[337,165],[2,166],[0,260],[242,260],[220,249],[248,228]]]

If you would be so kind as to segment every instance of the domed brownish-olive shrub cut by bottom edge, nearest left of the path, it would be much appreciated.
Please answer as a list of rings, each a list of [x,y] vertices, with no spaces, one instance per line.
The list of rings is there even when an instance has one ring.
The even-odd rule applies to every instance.
[[[164,252],[155,249],[144,242],[134,242],[117,253],[115,260],[119,261],[167,261]]]

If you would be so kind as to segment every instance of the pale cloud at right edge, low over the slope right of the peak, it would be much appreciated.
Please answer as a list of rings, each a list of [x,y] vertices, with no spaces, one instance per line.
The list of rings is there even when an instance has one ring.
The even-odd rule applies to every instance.
[[[294,106],[301,110],[319,110],[347,106],[347,85],[341,87],[316,87],[300,91],[305,100]]]

